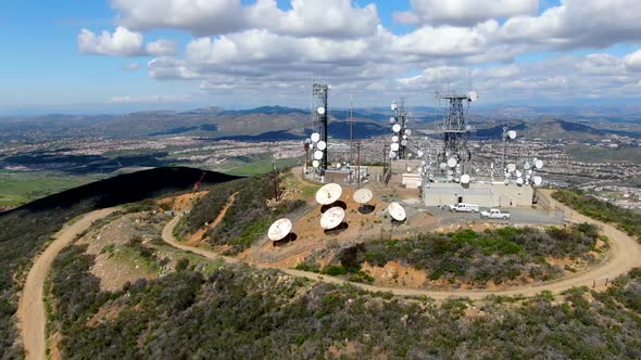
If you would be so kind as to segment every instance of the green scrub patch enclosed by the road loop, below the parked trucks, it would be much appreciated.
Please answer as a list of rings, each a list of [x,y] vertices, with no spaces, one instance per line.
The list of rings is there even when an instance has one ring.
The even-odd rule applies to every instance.
[[[501,228],[475,232],[420,234],[405,240],[372,240],[342,248],[332,263],[320,269],[313,259],[299,265],[334,275],[350,273],[355,280],[367,277],[362,266],[384,267],[399,261],[425,270],[429,281],[464,282],[485,287],[489,281],[503,283],[529,279],[548,281],[563,273],[549,258],[569,257],[583,262],[594,260],[588,253],[600,239],[598,228],[588,223],[570,228]],[[351,278],[350,278],[351,279]]]

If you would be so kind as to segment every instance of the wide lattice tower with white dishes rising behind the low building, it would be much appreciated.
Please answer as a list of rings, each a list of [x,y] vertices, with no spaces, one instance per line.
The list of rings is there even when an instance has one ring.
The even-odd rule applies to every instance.
[[[467,145],[474,128],[465,119],[463,102],[476,101],[478,95],[470,91],[467,94],[439,94],[437,98],[448,102],[443,121],[437,126],[441,133],[443,145],[437,154],[440,169],[448,170],[452,178],[472,172],[472,152]]]

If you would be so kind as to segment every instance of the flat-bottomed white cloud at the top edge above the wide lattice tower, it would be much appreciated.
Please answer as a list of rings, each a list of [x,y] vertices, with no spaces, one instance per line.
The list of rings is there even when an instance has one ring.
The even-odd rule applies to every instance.
[[[539,0],[412,0],[412,10],[393,13],[401,24],[475,25],[498,17],[532,15]]]

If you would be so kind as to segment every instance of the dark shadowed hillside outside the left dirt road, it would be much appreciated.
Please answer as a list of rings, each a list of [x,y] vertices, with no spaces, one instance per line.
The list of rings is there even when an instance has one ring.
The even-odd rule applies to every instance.
[[[229,181],[235,177],[189,168],[156,168],[92,182],[0,214],[0,353],[21,358],[17,292],[34,257],[62,226],[98,208]]]

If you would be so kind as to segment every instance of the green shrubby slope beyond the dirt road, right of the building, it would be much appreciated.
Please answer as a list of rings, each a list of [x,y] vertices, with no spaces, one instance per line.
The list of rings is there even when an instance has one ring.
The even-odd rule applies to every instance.
[[[580,190],[558,190],[552,197],[585,216],[614,223],[619,230],[641,242],[641,211],[620,208]]]

